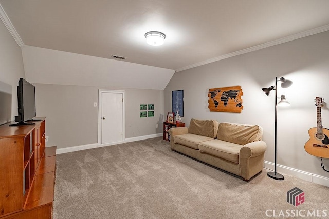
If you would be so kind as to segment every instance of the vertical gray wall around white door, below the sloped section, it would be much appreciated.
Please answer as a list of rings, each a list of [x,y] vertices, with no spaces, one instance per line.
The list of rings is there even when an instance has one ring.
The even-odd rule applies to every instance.
[[[34,84],[36,116],[46,116],[47,146],[57,148],[95,144],[98,140],[98,90],[126,91],[126,138],[161,133],[163,91],[89,86]],[[154,104],[154,117],[139,117],[140,104]],[[159,124],[161,127],[161,123]]]

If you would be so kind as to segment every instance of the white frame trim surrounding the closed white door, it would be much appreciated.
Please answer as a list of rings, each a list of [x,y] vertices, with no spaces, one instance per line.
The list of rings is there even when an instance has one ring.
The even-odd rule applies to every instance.
[[[121,93],[122,94],[122,142],[102,144],[102,94]],[[116,145],[125,142],[125,90],[98,90],[98,147]]]

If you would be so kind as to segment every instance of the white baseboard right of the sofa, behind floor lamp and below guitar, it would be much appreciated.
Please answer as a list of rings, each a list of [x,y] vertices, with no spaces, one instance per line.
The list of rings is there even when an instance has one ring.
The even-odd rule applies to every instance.
[[[274,163],[264,161],[264,168],[269,169],[269,170],[274,170]],[[316,175],[313,173],[308,173],[308,172],[305,172],[302,170],[294,169],[291,167],[286,167],[286,166],[279,165],[279,164],[277,164],[277,172],[281,173],[281,174],[285,173],[285,174],[293,175],[302,180],[329,187],[329,178],[327,178],[327,177],[323,177],[323,176]]]

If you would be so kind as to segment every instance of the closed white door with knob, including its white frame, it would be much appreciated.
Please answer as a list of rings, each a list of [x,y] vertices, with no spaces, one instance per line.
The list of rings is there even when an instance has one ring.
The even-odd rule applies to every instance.
[[[101,146],[122,142],[123,139],[123,96],[122,92],[100,91],[99,142]]]

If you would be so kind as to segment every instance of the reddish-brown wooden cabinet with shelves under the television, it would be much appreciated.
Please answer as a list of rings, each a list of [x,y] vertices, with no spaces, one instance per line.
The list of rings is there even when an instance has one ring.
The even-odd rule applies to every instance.
[[[0,218],[51,218],[56,146],[45,147],[45,118],[0,126]],[[47,152],[48,151],[48,152]]]

